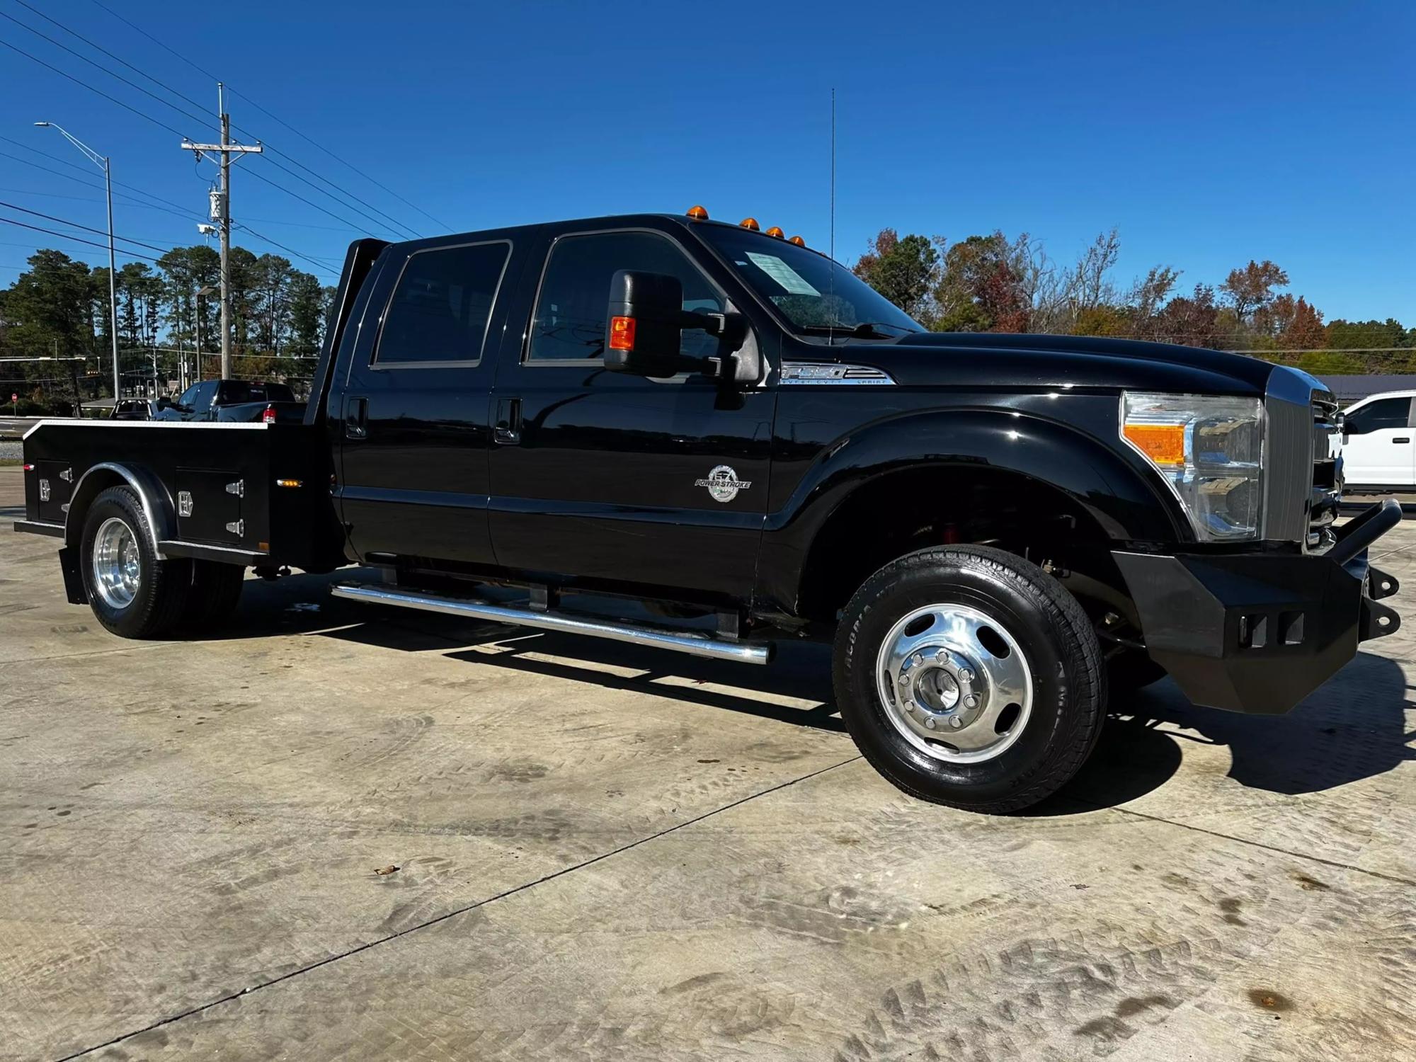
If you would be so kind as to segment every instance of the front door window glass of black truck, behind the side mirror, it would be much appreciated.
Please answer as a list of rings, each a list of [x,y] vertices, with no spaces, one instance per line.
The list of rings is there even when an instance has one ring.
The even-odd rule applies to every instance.
[[[599,232],[562,236],[551,248],[531,321],[527,361],[588,361],[605,355],[605,312],[610,278],[620,269],[677,276],[684,309],[722,312],[722,297],[698,268],[666,236],[653,232]],[[701,329],[684,331],[684,354],[709,357],[718,340]]]

